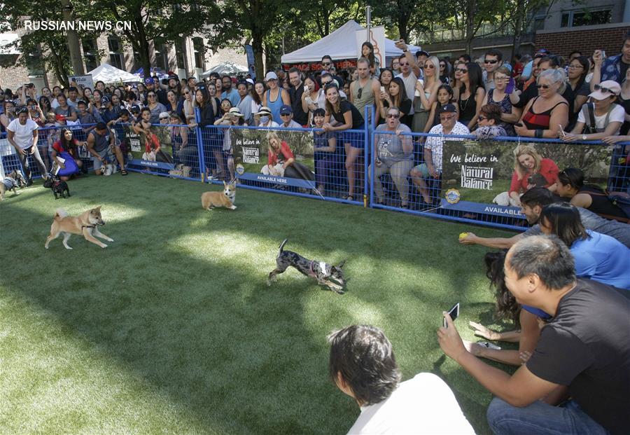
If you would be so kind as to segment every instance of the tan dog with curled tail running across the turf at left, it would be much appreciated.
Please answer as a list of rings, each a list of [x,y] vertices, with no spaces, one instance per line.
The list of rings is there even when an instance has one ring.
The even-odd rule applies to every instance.
[[[107,237],[99,231],[97,228],[100,225],[105,225],[101,217],[101,206],[87,210],[87,212],[80,214],[79,216],[68,216],[68,213],[63,209],[57,209],[55,213],[55,219],[50,226],[50,235],[46,239],[44,247],[48,249],[48,243],[51,240],[55,240],[59,237],[59,234],[64,233],[64,247],[66,249],[72,249],[68,246],[68,239],[72,234],[81,234],[85,237],[85,240],[98,244],[99,247],[106,248],[107,245],[98,240],[96,237],[101,237],[108,242],[113,242],[113,239]],[[96,236],[96,237],[94,237]]]

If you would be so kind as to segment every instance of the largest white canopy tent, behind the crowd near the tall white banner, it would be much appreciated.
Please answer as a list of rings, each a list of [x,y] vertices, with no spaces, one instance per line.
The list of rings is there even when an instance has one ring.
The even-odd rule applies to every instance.
[[[306,47],[287,53],[281,57],[283,64],[297,64],[300,62],[319,62],[323,55],[330,55],[332,60],[356,59],[358,50],[356,48],[355,32],[365,29],[354,20],[349,20],[328,36],[324,36],[319,41],[315,41]],[[416,53],[420,47],[407,45],[411,53]],[[386,59],[402,55],[402,50],[395,47],[395,41],[385,39]],[[381,65],[384,67],[384,65]]]

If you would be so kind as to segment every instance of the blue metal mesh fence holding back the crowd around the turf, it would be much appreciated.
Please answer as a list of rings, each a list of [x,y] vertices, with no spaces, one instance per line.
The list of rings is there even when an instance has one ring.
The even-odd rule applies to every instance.
[[[365,118],[373,119],[374,117],[366,113]],[[134,158],[131,154],[132,144],[130,144],[130,137],[127,137],[126,126],[117,124],[113,127],[112,130],[117,137],[116,144],[123,151],[128,170],[213,184],[236,179],[239,187],[258,191],[299,195],[486,226],[520,230],[526,227],[524,216],[519,213],[496,214],[483,210],[466,212],[449,207],[442,200],[442,183],[449,183],[450,180],[442,180],[441,177],[426,174],[426,168],[422,166],[425,163],[423,144],[427,137],[436,137],[435,134],[400,134],[400,138],[407,141],[407,146],[412,146],[412,158],[393,165],[384,165],[377,161],[378,156],[372,144],[378,142],[379,135],[395,134],[395,132],[375,130],[374,125],[367,125],[367,123],[363,130],[337,132],[325,132],[316,128],[260,128],[238,125],[188,127],[187,125],[160,124],[156,126],[162,127],[162,136],[169,138],[167,143],[162,144],[162,149],[172,156],[172,160],[168,162],[148,162]],[[90,127],[74,127],[73,134],[76,139],[84,141]],[[127,127],[130,126],[127,125]],[[40,129],[38,148],[42,157],[45,156],[47,167],[50,165],[52,142],[56,140],[58,130],[56,127]],[[269,172],[265,175],[264,170],[260,170],[262,174],[257,172],[256,176],[249,174],[245,177],[239,174],[240,157],[235,156],[235,150],[232,148],[232,135],[242,135],[246,131],[264,132],[267,137],[272,133],[283,137],[291,132],[298,132],[302,137],[306,137],[304,132],[307,132],[313,145],[309,156],[309,158],[312,156],[310,166],[301,164],[307,167],[307,171],[302,171],[295,176],[299,179],[288,182],[286,181],[288,176],[279,177]],[[443,138],[475,139],[473,136],[452,135]],[[496,139],[512,141],[514,144],[520,141],[516,137]],[[526,141],[527,143],[559,142],[530,138]],[[575,146],[581,144],[584,143],[578,143]],[[594,142],[589,144],[594,144]],[[141,146],[144,147],[144,142]],[[260,144],[260,146],[266,146],[266,144]],[[89,167],[92,163],[87,152],[80,150],[79,154],[85,165]],[[6,140],[6,134],[0,136],[0,155],[5,172],[22,169],[20,159]],[[300,162],[301,157],[295,156],[295,161]],[[262,162],[262,164],[266,163]],[[31,162],[31,169],[35,177],[41,176],[34,162]],[[630,192],[630,144],[615,146],[607,184],[610,191]]]

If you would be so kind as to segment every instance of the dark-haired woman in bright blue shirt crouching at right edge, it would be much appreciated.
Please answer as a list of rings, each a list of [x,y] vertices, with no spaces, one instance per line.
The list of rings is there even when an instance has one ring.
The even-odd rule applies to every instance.
[[[587,230],[577,207],[558,202],[542,207],[540,230],[556,235],[575,258],[575,275],[630,289],[630,248],[610,235]]]

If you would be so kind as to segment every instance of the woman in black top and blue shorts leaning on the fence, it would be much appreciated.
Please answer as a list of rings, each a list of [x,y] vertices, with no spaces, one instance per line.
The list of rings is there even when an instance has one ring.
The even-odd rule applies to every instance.
[[[343,132],[344,130],[360,130],[363,128],[363,116],[347,100],[341,100],[339,97],[339,88],[331,83],[325,88],[326,96],[326,116],[324,119],[323,129],[327,132]],[[330,118],[337,121],[336,125],[330,124]],[[363,151],[363,137],[360,134],[345,132],[344,133],[344,149],[346,150],[346,173],[348,175],[348,195],[346,200],[354,199],[355,177],[358,172],[359,186],[363,180],[363,165],[357,164],[360,160],[361,151]]]

